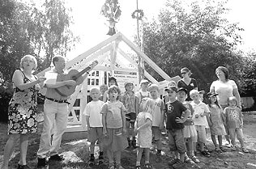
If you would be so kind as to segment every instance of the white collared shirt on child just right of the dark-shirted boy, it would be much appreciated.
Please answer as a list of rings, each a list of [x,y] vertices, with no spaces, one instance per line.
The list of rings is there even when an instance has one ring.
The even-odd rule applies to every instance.
[[[201,116],[204,112],[210,112],[209,108],[207,107],[207,104],[204,104],[200,101],[199,104],[195,104],[194,101],[191,103],[192,108],[194,109],[194,115],[198,115],[198,118],[194,118],[194,125],[204,125],[208,127],[207,117]]]

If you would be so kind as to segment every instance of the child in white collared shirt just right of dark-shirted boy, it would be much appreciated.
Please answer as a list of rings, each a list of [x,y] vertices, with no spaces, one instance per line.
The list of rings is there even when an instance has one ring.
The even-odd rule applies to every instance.
[[[207,142],[207,132],[206,128],[208,126],[207,117],[210,110],[207,104],[204,104],[200,100],[200,94],[197,90],[190,91],[190,98],[193,99],[190,103],[194,109],[194,126],[198,132],[198,144],[201,151],[206,157],[210,157],[210,153],[205,149],[205,144]]]

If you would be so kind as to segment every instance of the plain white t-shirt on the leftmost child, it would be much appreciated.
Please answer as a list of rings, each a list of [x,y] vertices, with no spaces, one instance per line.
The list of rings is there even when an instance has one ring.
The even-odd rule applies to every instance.
[[[83,114],[89,116],[90,127],[103,127],[101,108],[104,102],[101,100],[91,101],[84,108]]]

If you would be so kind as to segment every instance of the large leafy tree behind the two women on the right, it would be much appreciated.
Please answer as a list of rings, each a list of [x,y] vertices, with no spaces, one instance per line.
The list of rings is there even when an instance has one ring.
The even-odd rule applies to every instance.
[[[208,91],[216,79],[215,68],[224,65],[235,74],[233,70],[240,67],[241,56],[233,49],[241,43],[238,32],[243,29],[223,18],[228,11],[224,2],[185,3],[168,1],[158,20],[143,24],[143,49],[171,77],[188,67],[199,89]],[[160,78],[155,72],[151,74]]]

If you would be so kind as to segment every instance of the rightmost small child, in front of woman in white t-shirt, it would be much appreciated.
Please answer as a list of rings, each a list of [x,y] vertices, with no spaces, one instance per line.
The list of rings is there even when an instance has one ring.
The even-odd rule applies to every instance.
[[[244,153],[249,153],[247,149],[245,149],[245,143],[243,138],[243,119],[241,109],[237,108],[237,98],[229,97],[228,98],[228,107],[224,108],[224,115],[226,116],[226,123],[228,126],[229,136],[231,138],[231,143],[233,145],[233,150],[237,150],[236,144],[236,135],[237,139],[241,144],[241,150]]]

